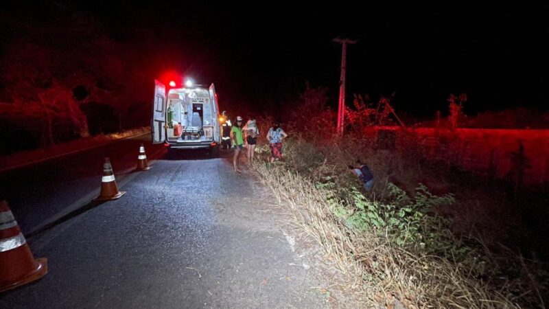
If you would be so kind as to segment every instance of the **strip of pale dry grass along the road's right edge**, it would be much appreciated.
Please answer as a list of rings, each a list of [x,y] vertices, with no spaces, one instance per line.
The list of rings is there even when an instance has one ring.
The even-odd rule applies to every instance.
[[[528,294],[539,297],[538,306],[544,306],[539,291],[523,286],[517,293],[517,284],[484,282],[464,264],[397,247],[386,233],[379,236],[347,227],[334,215],[329,203],[337,192],[316,186],[316,180],[323,176],[338,177],[342,173],[340,164],[355,157],[356,149],[340,146],[322,155],[304,141],[290,142],[285,144],[285,162],[258,163],[255,169],[278,202],[288,207],[294,225],[320,244],[327,260],[349,276],[349,290],[366,297],[368,306],[390,307],[398,299],[407,308],[521,308],[517,301]],[[258,150],[259,157],[266,157],[265,146]],[[296,155],[299,151],[308,155],[300,157]],[[375,173],[388,179],[392,172],[409,170],[409,166],[398,166],[396,161],[392,168],[386,168],[387,162],[380,164],[386,170]],[[383,181],[378,181],[377,194],[383,194],[379,183]]]

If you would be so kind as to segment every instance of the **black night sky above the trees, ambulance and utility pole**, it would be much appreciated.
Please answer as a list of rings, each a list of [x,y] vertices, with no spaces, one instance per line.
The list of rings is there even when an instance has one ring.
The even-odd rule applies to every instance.
[[[449,93],[467,93],[469,114],[549,106],[547,5],[43,1],[29,15],[56,23],[59,6],[97,21],[128,53],[146,50],[151,62],[136,65],[154,64],[151,80],[183,71],[214,82],[229,106],[277,109],[305,81],[327,87],[336,106],[337,36],[359,40],[348,49],[348,101],[352,93],[377,100],[395,91],[397,110],[420,118],[445,112]]]

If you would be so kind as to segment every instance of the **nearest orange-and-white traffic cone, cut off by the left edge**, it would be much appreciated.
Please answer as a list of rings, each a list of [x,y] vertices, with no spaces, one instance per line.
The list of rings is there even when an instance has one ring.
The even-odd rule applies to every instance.
[[[38,280],[47,259],[34,260],[30,247],[6,201],[0,201],[0,292]]]

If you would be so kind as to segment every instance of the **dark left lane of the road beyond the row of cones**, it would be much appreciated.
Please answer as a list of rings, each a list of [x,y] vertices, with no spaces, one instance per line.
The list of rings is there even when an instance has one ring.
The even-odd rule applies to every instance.
[[[99,194],[105,157],[110,158],[117,183],[124,183],[135,170],[141,143],[149,159],[165,153],[162,145],[150,144],[147,133],[0,172],[0,198],[8,201],[19,227],[28,235]]]

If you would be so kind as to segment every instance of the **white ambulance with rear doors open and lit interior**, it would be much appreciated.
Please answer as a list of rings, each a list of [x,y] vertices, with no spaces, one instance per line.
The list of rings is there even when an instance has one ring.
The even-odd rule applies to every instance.
[[[152,144],[171,149],[208,148],[218,153],[221,142],[219,107],[213,84],[171,88],[155,80],[152,106]]]

